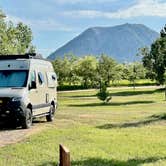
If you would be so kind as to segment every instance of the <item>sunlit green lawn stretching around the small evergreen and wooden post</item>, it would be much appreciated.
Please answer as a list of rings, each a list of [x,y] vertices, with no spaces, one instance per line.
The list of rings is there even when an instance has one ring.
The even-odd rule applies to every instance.
[[[0,148],[0,166],[52,166],[59,143],[72,166],[166,165],[166,101],[156,89],[112,90],[104,105],[95,91],[61,92],[53,124],[23,142]]]

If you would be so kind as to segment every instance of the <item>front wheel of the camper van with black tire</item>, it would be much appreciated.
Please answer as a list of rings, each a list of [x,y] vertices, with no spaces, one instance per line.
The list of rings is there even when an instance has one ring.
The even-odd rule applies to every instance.
[[[27,108],[25,111],[25,117],[22,119],[22,128],[29,129],[32,126],[32,111]]]

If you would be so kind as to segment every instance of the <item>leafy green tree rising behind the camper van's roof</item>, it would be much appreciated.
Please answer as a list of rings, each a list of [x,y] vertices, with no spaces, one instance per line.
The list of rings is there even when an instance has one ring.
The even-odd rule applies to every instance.
[[[0,16],[3,13],[0,12]],[[16,26],[0,18],[0,54],[25,54],[35,52],[32,45],[32,31],[23,23]]]

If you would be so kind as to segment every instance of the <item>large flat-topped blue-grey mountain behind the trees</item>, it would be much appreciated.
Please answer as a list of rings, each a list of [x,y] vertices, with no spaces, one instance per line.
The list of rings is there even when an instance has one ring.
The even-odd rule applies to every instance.
[[[54,60],[65,54],[77,56],[107,54],[119,62],[132,62],[138,48],[150,46],[159,34],[142,24],[123,24],[114,27],[93,27],[53,52]]]

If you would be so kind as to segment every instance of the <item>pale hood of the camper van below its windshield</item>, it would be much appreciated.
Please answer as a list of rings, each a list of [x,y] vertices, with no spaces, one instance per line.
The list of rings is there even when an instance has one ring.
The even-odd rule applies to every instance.
[[[24,97],[26,88],[0,88],[0,97]]]

